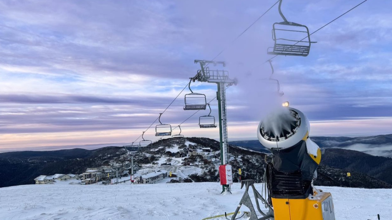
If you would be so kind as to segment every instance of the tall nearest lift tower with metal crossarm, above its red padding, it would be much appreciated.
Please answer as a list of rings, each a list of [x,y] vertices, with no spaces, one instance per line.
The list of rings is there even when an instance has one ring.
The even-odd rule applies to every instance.
[[[225,70],[210,70],[207,65],[210,63],[216,66],[217,64],[225,67],[223,61],[209,61],[209,60],[195,60],[194,63],[199,63],[201,69],[197,71],[196,76],[192,81],[200,81],[207,83],[216,83],[218,91],[216,92],[216,99],[218,100],[219,110],[219,137],[220,137],[220,152],[221,165],[229,162],[228,140],[227,140],[227,115],[226,115],[226,87],[237,85],[237,79],[230,79],[229,72]],[[222,193],[230,191],[230,185],[222,185]]]

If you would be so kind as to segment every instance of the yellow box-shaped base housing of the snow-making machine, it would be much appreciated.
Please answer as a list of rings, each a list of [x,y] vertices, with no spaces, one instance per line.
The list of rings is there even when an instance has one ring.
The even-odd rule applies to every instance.
[[[331,193],[305,199],[272,198],[275,220],[335,220]]]

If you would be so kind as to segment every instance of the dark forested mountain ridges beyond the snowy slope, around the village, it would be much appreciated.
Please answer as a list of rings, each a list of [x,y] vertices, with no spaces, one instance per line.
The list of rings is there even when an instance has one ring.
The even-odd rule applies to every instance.
[[[190,144],[186,145],[186,142]],[[157,151],[148,151],[149,153],[147,154],[151,156],[139,157],[135,160],[135,164],[140,164],[140,166],[151,166],[151,164],[155,164],[154,166],[156,166],[160,158],[169,157],[168,155],[174,153],[172,152],[174,149],[173,145],[177,146],[177,151],[182,148],[211,148],[212,151],[218,153],[220,150],[220,143],[218,141],[203,137],[186,137],[182,142],[179,142],[178,139],[174,140],[169,138],[162,139],[162,142],[159,141],[154,144],[152,149],[156,149]],[[345,155],[345,153],[350,154],[351,152],[349,150],[342,150],[344,151],[343,153],[334,153],[335,148],[327,148],[319,166],[319,179],[316,180],[317,184],[324,184],[326,186],[349,186],[352,184],[352,186],[367,188],[392,188],[392,179],[383,178],[385,177],[385,173],[388,172],[389,166],[377,166],[377,164],[370,163],[374,160],[371,157],[374,156],[359,151],[357,151],[358,153],[351,153],[351,155],[356,156],[355,161],[348,160],[350,157],[338,157],[339,155]],[[109,165],[113,161],[121,162],[127,160],[122,157],[126,153],[125,149],[117,146],[95,150],[69,149],[38,152],[42,153],[33,153],[31,151],[0,153],[0,175],[9,177],[0,182],[0,187],[33,184],[33,179],[38,175],[53,175],[54,173],[79,174],[84,172],[85,168],[88,167],[98,167]],[[58,157],[55,155],[56,152],[58,152]],[[143,155],[146,155],[146,152]],[[234,180],[239,181],[240,175],[238,174],[238,168],[241,168],[243,170],[242,179],[255,179],[256,182],[262,181],[265,168],[264,156],[266,153],[250,151],[247,148],[233,145],[229,145],[229,152],[231,154],[230,164],[233,166]],[[220,164],[219,161],[212,162],[199,156],[190,156],[182,159],[184,163],[193,163],[193,166],[199,166],[202,170],[202,173],[195,173],[189,177],[196,182],[218,181],[219,174],[217,166]],[[354,169],[356,166],[353,164],[358,164],[358,161],[363,160],[364,157],[367,158],[366,161],[370,161],[367,163],[366,169],[374,169],[377,172],[367,172],[366,169],[362,168],[358,170]],[[341,164],[339,160],[349,162],[348,164]],[[383,160],[390,161],[392,159],[385,158]],[[345,178],[345,174],[348,171],[352,172],[352,178],[348,179],[351,182]],[[13,175],[13,173],[18,173],[18,175]],[[377,175],[378,173],[383,173],[383,175]],[[332,179],[331,176],[333,176]]]

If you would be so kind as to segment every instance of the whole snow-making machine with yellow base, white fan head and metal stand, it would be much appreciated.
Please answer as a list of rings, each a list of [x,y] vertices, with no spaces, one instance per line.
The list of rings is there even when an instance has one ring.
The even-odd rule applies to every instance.
[[[321,150],[309,138],[309,121],[301,111],[284,104],[287,107],[267,115],[257,128],[260,143],[272,153],[270,162],[266,157],[266,195],[260,195],[254,180],[242,180],[241,188],[246,189],[232,220],[242,205],[250,209],[249,220],[335,220],[331,194],[313,186]],[[260,214],[253,207],[249,189]],[[261,210],[259,200],[268,211]]]

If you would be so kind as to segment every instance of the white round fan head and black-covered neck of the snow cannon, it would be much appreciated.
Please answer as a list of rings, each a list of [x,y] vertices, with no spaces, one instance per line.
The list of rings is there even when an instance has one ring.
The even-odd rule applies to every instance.
[[[295,108],[275,110],[257,130],[260,143],[272,152],[271,197],[307,198],[313,194],[312,180],[321,160],[321,150],[309,139],[307,117]],[[267,172],[268,173],[268,172]]]

